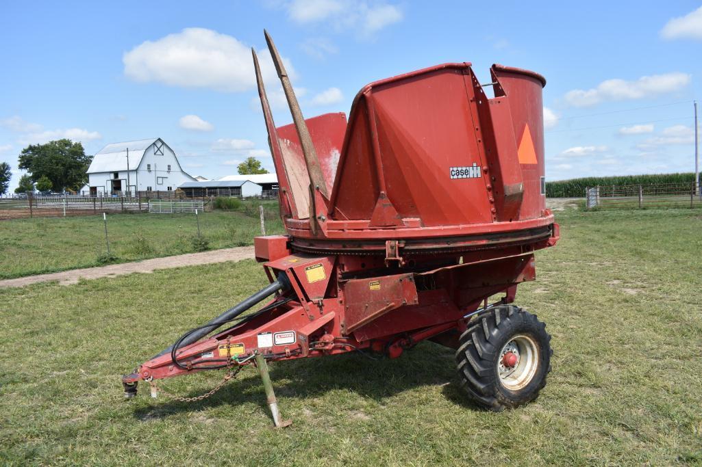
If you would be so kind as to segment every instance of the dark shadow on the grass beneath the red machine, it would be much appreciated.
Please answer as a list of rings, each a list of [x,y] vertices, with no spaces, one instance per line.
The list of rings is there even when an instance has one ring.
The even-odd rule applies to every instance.
[[[362,398],[382,403],[404,391],[421,386],[443,386],[442,394],[448,400],[471,410],[482,410],[463,395],[458,387],[453,350],[423,342],[406,351],[400,358],[376,357],[371,360],[360,353],[340,356],[303,358],[288,362],[270,363],[270,376],[277,398],[312,399],[331,391],[350,391]],[[148,386],[140,385],[147,393]],[[183,394],[200,395],[201,391]],[[258,370],[244,369],[236,381],[211,398],[197,402],[154,401],[152,405],[135,410],[134,417],[145,421],[164,419],[180,412],[193,412],[219,405],[253,403],[268,411],[263,384]]]

